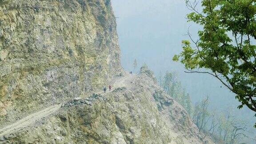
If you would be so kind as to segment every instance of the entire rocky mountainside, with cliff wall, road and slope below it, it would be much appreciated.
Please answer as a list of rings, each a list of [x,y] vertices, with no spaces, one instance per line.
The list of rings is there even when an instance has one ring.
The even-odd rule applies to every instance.
[[[110,0],[1,0],[0,143],[211,140],[147,67],[125,74]]]

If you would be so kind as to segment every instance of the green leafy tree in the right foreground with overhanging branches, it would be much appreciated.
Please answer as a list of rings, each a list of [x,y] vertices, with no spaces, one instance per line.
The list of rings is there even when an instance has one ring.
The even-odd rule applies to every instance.
[[[256,112],[256,0],[186,0],[188,21],[202,26],[198,40],[183,40],[183,51],[173,57],[190,73],[207,73],[222,82],[241,102]],[[256,125],[255,125],[256,127]]]

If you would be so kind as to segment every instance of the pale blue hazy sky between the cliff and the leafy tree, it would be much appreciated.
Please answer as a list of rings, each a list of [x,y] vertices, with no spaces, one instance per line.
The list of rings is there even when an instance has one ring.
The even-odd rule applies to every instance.
[[[174,54],[181,51],[181,40],[188,39],[188,28],[191,26],[189,31],[195,39],[200,28],[185,19],[190,12],[185,0],[112,0],[112,7],[118,17],[121,62],[127,71],[132,71],[133,60],[137,59],[140,66],[145,62],[156,75],[160,71],[177,72],[193,103],[209,95],[212,109],[230,107],[251,122],[256,121],[247,108],[236,109],[239,103],[234,94],[218,80],[209,75],[184,73],[183,65],[172,61]]]

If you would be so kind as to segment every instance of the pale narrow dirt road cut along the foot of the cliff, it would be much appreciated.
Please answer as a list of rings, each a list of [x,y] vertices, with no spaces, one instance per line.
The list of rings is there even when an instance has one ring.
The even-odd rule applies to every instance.
[[[117,79],[114,84],[113,88],[120,88],[120,87],[125,87],[126,81],[134,77],[135,75],[126,75],[120,79]],[[111,91],[107,91],[109,93]],[[103,94],[104,92],[97,92],[98,94]],[[4,136],[9,133],[16,132],[22,128],[28,128],[32,126],[36,121],[41,120],[42,118],[49,116],[50,114],[56,112],[59,108],[61,107],[61,104],[56,104],[53,106],[50,106],[48,108],[45,108],[44,110],[41,110],[39,112],[32,113],[31,115],[28,115],[21,120],[16,121],[13,124],[10,124],[2,129],[0,129],[0,136]]]

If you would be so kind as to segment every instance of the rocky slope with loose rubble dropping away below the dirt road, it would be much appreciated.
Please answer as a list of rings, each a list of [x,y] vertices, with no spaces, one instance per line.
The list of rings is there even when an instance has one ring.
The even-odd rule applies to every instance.
[[[125,87],[63,104],[35,126],[4,138],[10,143],[204,144],[212,143],[187,112],[143,74]]]

